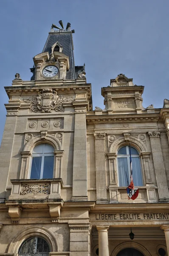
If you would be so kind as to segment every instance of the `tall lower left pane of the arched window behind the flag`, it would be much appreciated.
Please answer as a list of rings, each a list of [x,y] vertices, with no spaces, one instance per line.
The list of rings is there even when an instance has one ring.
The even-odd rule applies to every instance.
[[[127,157],[118,158],[118,178],[119,186],[129,186],[129,172],[127,166]]]

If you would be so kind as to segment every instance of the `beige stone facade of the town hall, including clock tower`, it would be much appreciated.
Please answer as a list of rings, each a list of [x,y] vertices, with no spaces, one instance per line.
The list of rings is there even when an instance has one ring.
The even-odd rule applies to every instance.
[[[85,70],[72,67],[73,47],[66,55],[69,45],[57,35],[69,35],[73,44],[70,27],[52,27],[49,50],[34,57],[34,79],[15,79],[5,87],[0,255],[122,256],[127,248],[133,256],[136,250],[144,256],[169,255],[169,100],[161,109],[143,108],[144,87],[120,74],[101,89],[105,109],[93,111]],[[59,70],[51,79],[42,74],[50,65]],[[67,72],[76,76],[68,79]],[[34,148],[41,144],[54,149],[53,177],[31,178]],[[135,201],[121,186],[118,164],[119,149],[129,145],[139,159],[133,175],[139,163],[142,177]],[[30,238],[44,239],[49,251],[43,244],[42,253],[38,240],[32,251],[21,251]]]

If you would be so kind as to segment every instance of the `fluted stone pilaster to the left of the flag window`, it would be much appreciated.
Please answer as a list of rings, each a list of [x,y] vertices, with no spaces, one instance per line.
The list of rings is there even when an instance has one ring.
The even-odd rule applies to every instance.
[[[96,201],[107,202],[104,138],[106,134],[94,134],[96,152]]]

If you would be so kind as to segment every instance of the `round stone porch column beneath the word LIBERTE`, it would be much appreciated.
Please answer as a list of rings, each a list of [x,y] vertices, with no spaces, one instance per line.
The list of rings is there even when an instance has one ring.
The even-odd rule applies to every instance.
[[[96,226],[99,234],[99,256],[109,256],[108,229],[109,226]]]

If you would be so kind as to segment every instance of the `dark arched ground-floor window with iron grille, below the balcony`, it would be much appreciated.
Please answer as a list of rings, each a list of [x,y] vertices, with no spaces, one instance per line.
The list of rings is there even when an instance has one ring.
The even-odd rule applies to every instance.
[[[31,237],[23,242],[20,247],[19,256],[48,256],[50,248],[48,243],[41,237]]]

